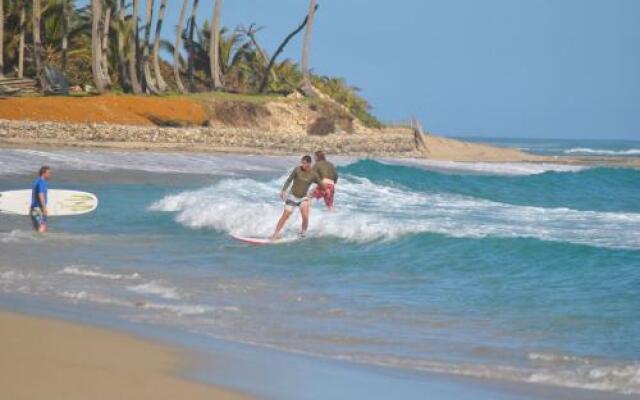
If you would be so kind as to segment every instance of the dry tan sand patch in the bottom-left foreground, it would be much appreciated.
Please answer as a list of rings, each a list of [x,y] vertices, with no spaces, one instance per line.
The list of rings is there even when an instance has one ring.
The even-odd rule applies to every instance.
[[[0,312],[0,398],[61,400],[249,397],[172,375],[177,350],[125,334]]]

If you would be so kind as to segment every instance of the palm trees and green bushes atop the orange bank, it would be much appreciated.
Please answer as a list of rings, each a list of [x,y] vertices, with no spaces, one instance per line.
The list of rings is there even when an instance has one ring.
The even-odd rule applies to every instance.
[[[214,29],[209,21],[197,25],[198,0],[183,0],[175,41],[160,40],[167,1],[91,0],[89,5],[79,6],[76,0],[0,0],[4,11],[0,78],[33,77],[46,93],[53,84],[46,71],[53,69],[72,87],[91,87],[97,92],[180,93],[253,103],[294,92],[309,101],[322,101],[317,99],[320,92],[364,125],[381,126],[357,88],[342,78],[319,76],[309,70],[310,31],[318,12],[315,0],[310,1],[308,14],[274,56],[258,42],[262,28],[255,24],[235,29],[220,25],[221,0],[214,2],[210,20]],[[304,68],[289,59],[277,60],[289,40],[304,29]],[[217,46],[212,43],[212,31],[218,33],[214,35]],[[174,55],[172,63],[160,58],[161,50]]]

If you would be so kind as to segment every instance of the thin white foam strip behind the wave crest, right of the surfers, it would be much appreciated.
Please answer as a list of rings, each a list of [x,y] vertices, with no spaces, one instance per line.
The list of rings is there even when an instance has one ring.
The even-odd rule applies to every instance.
[[[544,174],[545,172],[578,172],[588,168],[582,165],[531,162],[458,162],[421,159],[386,159],[383,162],[387,164],[409,165],[436,171],[440,170],[507,176],[538,175]]]

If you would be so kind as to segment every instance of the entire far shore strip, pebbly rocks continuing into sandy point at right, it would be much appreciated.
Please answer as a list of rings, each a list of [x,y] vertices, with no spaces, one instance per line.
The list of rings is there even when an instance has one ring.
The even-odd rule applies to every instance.
[[[416,147],[408,129],[310,136],[237,128],[167,128],[0,120],[0,147],[134,152],[299,156],[317,149],[336,156],[459,163],[532,163],[640,168],[640,157],[543,156],[516,149],[425,135]]]

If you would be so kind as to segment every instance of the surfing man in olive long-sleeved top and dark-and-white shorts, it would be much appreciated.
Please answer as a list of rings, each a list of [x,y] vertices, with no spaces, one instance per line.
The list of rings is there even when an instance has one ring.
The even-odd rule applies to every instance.
[[[282,232],[296,207],[300,208],[300,215],[302,216],[300,236],[304,236],[307,233],[307,228],[309,227],[309,188],[314,183],[322,186],[320,178],[311,168],[311,157],[304,156],[300,161],[300,165],[291,172],[284,186],[282,186],[280,197],[284,201],[285,207],[276,230],[271,236],[272,239],[280,237],[280,232]],[[291,191],[289,191],[289,186],[291,186]]]

